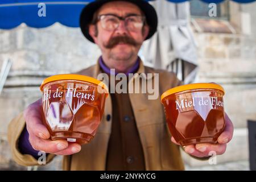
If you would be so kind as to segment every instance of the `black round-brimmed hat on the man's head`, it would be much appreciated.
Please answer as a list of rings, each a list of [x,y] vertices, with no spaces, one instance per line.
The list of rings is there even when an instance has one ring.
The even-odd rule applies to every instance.
[[[139,7],[146,16],[146,21],[150,27],[150,31],[145,40],[151,38],[155,34],[156,28],[158,27],[158,16],[153,6],[144,0],[96,0],[84,7],[80,15],[80,28],[85,38],[94,43],[93,38],[89,35],[89,24],[92,22],[93,14],[105,3],[112,1],[127,1],[133,3]]]

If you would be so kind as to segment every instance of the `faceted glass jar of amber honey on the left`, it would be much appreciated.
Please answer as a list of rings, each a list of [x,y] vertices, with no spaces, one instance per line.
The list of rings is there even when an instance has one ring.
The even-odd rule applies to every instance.
[[[98,92],[97,84],[79,80],[48,82],[42,91],[44,124],[51,139],[90,142],[100,125],[108,93]]]

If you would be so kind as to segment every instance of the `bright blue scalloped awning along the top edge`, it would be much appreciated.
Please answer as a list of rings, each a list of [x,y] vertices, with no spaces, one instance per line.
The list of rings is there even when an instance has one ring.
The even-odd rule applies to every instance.
[[[68,27],[79,27],[79,15],[88,2],[94,0],[0,0],[0,28],[10,29],[26,23],[29,27],[43,28],[59,22]],[[151,0],[148,0],[151,1]],[[168,0],[184,2],[188,0]],[[225,0],[201,0],[220,3]],[[239,3],[249,3],[256,0],[233,0]],[[39,3],[45,3],[46,16],[39,16],[42,9]]]

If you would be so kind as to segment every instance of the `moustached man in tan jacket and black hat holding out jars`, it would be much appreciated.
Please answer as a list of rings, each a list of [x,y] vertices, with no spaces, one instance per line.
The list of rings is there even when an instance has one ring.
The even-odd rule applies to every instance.
[[[143,41],[157,27],[155,10],[146,1],[89,3],[82,11],[80,26],[85,37],[100,47],[102,56],[96,65],[79,74],[110,76],[110,68],[126,75],[158,73],[160,93],[181,84],[173,73],[144,67],[138,57]],[[50,140],[42,123],[42,102],[36,101],[10,123],[13,158],[24,166],[38,165],[38,151],[45,151],[47,163],[55,155],[64,155],[65,170],[182,170],[180,146],[168,133],[160,99],[148,100],[147,95],[111,93],[95,137],[83,146]],[[233,135],[232,122],[227,115],[225,119],[226,127],[218,144],[189,145],[184,151],[202,159],[208,157],[209,151],[223,154]]]

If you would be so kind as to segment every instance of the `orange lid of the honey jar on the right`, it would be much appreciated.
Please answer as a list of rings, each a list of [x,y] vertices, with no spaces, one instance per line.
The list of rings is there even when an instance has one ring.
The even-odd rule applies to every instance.
[[[193,89],[217,89],[223,92],[225,94],[224,88],[218,84],[212,84],[212,83],[199,83],[199,84],[187,84],[187,85],[180,85],[176,86],[175,88],[171,88],[164,92],[161,96],[161,102],[163,102],[163,99],[167,96],[170,96],[174,93],[183,92],[186,90],[193,90]]]

